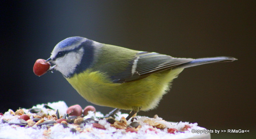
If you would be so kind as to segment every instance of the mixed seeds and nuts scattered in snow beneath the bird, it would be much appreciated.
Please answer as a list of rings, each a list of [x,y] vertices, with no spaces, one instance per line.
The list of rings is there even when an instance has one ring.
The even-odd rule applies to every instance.
[[[167,122],[155,115],[152,118],[118,112],[115,118],[105,118],[93,106],[68,108],[64,101],[38,104],[30,109],[9,109],[0,113],[0,139],[26,138],[189,138],[200,136],[192,129],[205,130],[197,123]]]

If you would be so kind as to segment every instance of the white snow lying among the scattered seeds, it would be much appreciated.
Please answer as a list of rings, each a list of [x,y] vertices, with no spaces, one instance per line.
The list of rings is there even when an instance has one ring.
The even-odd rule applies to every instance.
[[[59,110],[60,115],[64,115],[67,111],[68,106],[64,101],[59,102],[53,102],[53,103],[47,103],[46,105],[50,106],[51,108],[55,109],[49,110],[44,108],[45,104],[38,104],[36,106],[33,106],[32,108],[41,108],[44,113],[49,113],[50,115],[56,113],[56,110]],[[23,108],[25,113],[28,113],[28,109]],[[128,114],[122,114],[121,112],[117,113],[116,120],[120,120],[121,117],[126,117]],[[89,112],[88,115],[84,116],[84,119],[94,117],[95,120],[99,121],[99,123],[103,126],[105,126],[106,130],[103,129],[97,129],[93,128],[92,124],[81,124],[80,127],[81,130],[83,130],[81,133],[76,131],[76,133],[70,132],[71,128],[78,128],[77,125],[68,124],[69,128],[64,128],[60,124],[55,124],[53,127],[47,129],[45,126],[42,126],[42,128],[39,128],[37,126],[33,127],[20,127],[17,125],[9,125],[8,123],[3,123],[2,119],[7,119],[8,122],[18,122],[18,118],[20,116],[16,115],[13,116],[10,114],[10,112],[5,112],[3,116],[0,116],[0,139],[91,139],[91,138],[99,138],[99,139],[112,139],[112,138],[118,138],[118,139],[132,139],[132,138],[138,138],[138,139],[185,139],[189,137],[196,137],[201,134],[192,133],[192,129],[200,129],[204,130],[202,127],[198,127],[197,123],[188,123],[188,122],[166,122],[162,118],[149,118],[145,116],[136,116],[138,120],[136,122],[139,122],[142,126],[138,133],[131,133],[131,132],[125,132],[125,129],[116,129],[115,127],[111,127],[106,120],[98,120],[96,117],[103,117],[104,115],[100,112]],[[32,117],[32,116],[31,116]],[[190,125],[191,128],[188,129],[188,131],[177,132],[175,134],[167,133],[167,128],[165,129],[156,129],[155,131],[149,131],[148,128],[153,128],[150,125],[147,125],[144,123],[146,119],[150,119],[152,121],[162,123],[167,128],[175,128],[175,129],[181,129],[185,125]],[[131,123],[130,121],[127,122],[128,125]],[[146,132],[147,130],[147,132]]]

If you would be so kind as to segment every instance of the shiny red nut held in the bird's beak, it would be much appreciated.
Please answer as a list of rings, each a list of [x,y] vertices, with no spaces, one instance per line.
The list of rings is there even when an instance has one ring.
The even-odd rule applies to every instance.
[[[33,67],[33,72],[37,76],[42,76],[50,68],[51,64],[49,62],[44,63],[45,61],[46,60],[44,60],[44,59],[36,60],[36,63],[34,64],[34,67]]]

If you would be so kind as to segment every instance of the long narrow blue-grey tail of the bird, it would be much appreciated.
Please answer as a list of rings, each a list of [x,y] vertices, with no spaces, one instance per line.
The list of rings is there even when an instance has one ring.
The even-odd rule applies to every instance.
[[[195,59],[188,63],[181,64],[179,66],[174,67],[173,69],[187,68],[187,67],[191,67],[191,66],[198,66],[198,65],[208,64],[208,63],[232,62],[234,60],[237,60],[237,59],[233,58],[233,57],[201,58],[201,59]]]

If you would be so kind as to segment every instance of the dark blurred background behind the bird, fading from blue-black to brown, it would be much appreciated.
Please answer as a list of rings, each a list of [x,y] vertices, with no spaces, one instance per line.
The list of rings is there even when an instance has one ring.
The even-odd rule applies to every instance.
[[[65,101],[92,105],[59,72],[37,77],[36,59],[71,36],[173,57],[237,61],[185,69],[157,109],[166,121],[197,122],[212,138],[255,137],[255,1],[1,1],[0,112]],[[93,105],[106,114],[112,108]],[[128,112],[128,111],[123,111]]]

